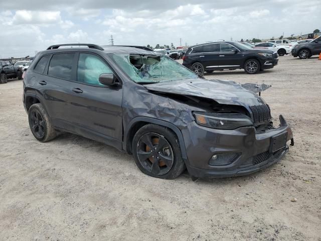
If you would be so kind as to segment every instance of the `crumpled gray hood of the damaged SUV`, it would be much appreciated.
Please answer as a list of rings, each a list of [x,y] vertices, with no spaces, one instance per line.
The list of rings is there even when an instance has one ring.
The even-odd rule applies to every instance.
[[[270,86],[251,83],[242,86],[234,81],[218,79],[205,80],[197,78],[146,84],[144,87],[150,91],[199,96],[213,99],[220,104],[242,105],[248,107],[264,103],[261,97],[255,92],[259,92],[257,90],[263,91]],[[251,89],[253,92],[248,89]]]

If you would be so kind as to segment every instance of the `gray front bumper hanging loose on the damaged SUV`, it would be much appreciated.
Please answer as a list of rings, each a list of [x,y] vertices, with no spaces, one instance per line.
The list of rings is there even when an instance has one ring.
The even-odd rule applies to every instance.
[[[247,175],[279,161],[288,146],[271,153],[272,137],[287,132],[287,140],[293,145],[293,134],[280,115],[280,127],[257,134],[254,127],[236,130],[215,130],[191,124],[184,130],[187,151],[186,166],[190,175],[198,178],[220,178]],[[187,135],[189,135],[187,137]],[[209,160],[217,153],[239,153],[239,156],[225,166],[211,166]]]

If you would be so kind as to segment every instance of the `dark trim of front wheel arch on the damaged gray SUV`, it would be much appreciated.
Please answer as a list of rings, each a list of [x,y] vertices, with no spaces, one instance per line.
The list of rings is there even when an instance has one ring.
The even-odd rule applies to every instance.
[[[182,151],[182,158],[184,159],[184,161],[187,160],[185,143],[184,143],[181,130],[177,126],[173,125],[172,123],[163,121],[161,119],[155,119],[155,118],[145,117],[145,116],[137,116],[133,118],[128,124],[128,127],[124,132],[123,150],[125,150],[128,154],[132,154],[131,143],[132,143],[133,137],[141,127],[147,124],[155,124],[155,125],[167,127],[171,131],[173,131],[179,139],[179,143]]]

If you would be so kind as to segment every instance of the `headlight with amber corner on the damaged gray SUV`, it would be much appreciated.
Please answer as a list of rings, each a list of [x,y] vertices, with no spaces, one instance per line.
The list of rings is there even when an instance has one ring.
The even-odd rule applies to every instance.
[[[198,125],[221,130],[234,130],[253,126],[252,119],[239,113],[194,112]]]

